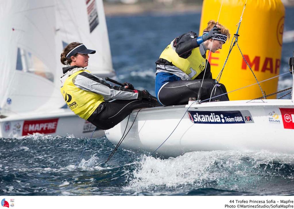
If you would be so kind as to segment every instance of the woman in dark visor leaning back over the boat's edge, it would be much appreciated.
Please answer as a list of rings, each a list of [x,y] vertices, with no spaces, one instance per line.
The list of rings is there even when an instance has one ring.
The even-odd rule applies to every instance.
[[[96,53],[82,43],[73,42],[61,53],[61,94],[69,108],[79,117],[91,122],[99,129],[110,129],[121,122],[134,109],[154,107],[158,103],[146,90],[135,90],[126,86],[111,86],[100,77],[92,75],[88,66],[88,54]],[[116,99],[106,102],[105,98]]]

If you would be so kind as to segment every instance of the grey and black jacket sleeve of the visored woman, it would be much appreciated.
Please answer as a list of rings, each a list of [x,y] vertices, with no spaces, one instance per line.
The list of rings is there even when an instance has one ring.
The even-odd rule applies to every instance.
[[[133,100],[138,98],[138,93],[125,89],[123,86],[112,86],[101,78],[87,72],[79,73],[72,81],[76,87],[100,94],[104,97],[119,100]]]

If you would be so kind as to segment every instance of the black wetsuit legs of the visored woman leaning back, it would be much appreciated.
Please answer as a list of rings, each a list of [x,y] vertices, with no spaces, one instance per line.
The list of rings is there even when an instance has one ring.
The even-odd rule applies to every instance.
[[[107,130],[125,119],[134,109],[160,106],[156,100],[114,100],[104,102],[104,108],[90,121],[99,129]]]

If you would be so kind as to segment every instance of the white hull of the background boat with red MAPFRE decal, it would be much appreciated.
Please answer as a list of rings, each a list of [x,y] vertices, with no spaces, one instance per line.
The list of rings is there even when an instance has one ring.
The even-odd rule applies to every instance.
[[[94,125],[76,116],[70,109],[26,112],[0,119],[0,137],[3,138],[24,138],[31,134],[90,137],[94,129]],[[104,136],[104,131],[97,129],[93,137],[99,136]]]

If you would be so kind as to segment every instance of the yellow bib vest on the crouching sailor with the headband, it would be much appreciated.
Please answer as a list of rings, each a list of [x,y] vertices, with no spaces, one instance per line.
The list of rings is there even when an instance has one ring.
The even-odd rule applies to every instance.
[[[173,65],[186,73],[191,80],[195,79],[205,69],[206,64],[206,59],[202,57],[199,47],[192,49],[191,55],[184,59],[179,57],[172,43],[173,41],[163,50],[159,58],[173,63]]]

